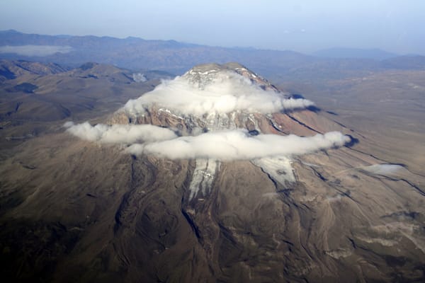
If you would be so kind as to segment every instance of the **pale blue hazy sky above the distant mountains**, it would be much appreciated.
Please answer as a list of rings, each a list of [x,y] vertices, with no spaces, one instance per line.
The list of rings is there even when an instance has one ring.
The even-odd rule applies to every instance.
[[[0,0],[0,30],[313,52],[425,54],[422,0]]]

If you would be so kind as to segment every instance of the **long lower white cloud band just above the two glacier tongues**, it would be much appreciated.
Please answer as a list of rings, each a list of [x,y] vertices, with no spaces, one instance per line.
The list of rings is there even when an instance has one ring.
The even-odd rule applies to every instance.
[[[340,132],[298,137],[259,134],[251,136],[246,130],[208,132],[195,137],[178,137],[148,144],[133,144],[131,154],[155,154],[171,159],[216,158],[219,160],[255,159],[269,156],[307,154],[321,149],[343,146],[350,138]]]

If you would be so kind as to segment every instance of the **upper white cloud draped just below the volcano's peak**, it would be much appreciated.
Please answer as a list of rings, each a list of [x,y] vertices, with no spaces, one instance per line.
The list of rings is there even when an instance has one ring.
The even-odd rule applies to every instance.
[[[234,110],[266,114],[314,105],[307,99],[288,99],[282,93],[263,90],[244,76],[232,72],[216,74],[205,85],[178,76],[171,81],[163,81],[136,100],[129,100],[124,108],[136,114],[145,112],[152,104],[186,115]]]

